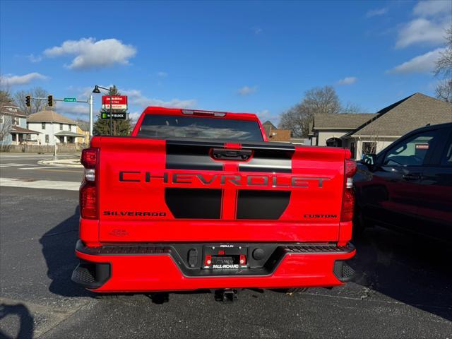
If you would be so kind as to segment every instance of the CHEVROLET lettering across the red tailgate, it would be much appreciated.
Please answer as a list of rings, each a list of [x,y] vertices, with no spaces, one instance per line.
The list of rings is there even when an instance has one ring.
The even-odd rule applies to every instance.
[[[120,182],[149,182],[157,180],[164,184],[203,184],[225,186],[272,186],[272,187],[295,187],[308,188],[309,182],[317,182],[318,187],[323,187],[326,177],[278,177],[273,174],[202,174],[202,173],[172,173],[163,172],[153,174],[152,172],[119,171]]]

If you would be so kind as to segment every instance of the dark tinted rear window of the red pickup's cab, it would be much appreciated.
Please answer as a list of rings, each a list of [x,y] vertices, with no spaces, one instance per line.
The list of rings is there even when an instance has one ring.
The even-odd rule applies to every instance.
[[[257,121],[146,114],[138,136],[263,141]]]

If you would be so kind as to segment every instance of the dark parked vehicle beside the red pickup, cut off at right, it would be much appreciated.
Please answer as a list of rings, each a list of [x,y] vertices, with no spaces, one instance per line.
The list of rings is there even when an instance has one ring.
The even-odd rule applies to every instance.
[[[411,131],[357,167],[355,232],[380,225],[452,242],[452,123]]]

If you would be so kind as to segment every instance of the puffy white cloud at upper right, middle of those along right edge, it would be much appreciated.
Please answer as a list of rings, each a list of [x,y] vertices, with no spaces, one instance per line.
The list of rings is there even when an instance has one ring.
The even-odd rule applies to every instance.
[[[403,25],[398,33],[396,48],[408,47],[411,44],[442,44],[444,42],[445,30],[450,21],[441,20],[435,23],[426,18],[417,18]]]

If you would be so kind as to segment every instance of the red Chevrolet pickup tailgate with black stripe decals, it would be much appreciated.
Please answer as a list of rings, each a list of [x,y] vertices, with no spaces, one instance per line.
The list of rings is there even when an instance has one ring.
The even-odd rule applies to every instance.
[[[345,150],[100,138],[100,242],[331,242]]]

